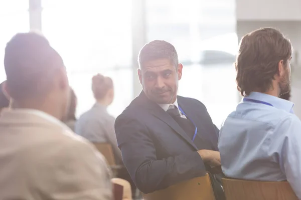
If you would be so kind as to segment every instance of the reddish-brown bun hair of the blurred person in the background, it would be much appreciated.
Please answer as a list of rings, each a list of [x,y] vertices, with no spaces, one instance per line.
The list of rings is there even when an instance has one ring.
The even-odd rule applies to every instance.
[[[92,77],[92,91],[96,99],[102,99],[109,89],[113,88],[113,80],[100,73]]]

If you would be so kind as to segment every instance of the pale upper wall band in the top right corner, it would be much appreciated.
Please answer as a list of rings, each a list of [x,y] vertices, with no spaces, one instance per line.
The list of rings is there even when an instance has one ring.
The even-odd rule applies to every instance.
[[[301,0],[236,0],[238,20],[301,20]]]

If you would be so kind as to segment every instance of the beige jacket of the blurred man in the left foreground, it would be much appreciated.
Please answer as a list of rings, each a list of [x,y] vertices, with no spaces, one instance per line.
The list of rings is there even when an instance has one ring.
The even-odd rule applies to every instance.
[[[103,156],[55,117],[11,109],[0,116],[0,199],[111,199]]]

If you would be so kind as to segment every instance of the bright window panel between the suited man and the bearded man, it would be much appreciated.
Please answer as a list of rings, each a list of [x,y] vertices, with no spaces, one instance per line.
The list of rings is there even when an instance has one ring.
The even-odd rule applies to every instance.
[[[164,39],[184,64],[179,94],[202,101],[219,127],[238,102],[235,0],[146,0],[147,40]]]

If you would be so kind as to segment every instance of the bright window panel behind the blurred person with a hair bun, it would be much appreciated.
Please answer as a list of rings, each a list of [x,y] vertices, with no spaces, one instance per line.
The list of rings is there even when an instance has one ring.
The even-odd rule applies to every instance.
[[[120,114],[132,98],[130,3],[130,0],[42,0],[42,30],[64,59],[70,85],[78,97],[77,115],[95,101],[91,78],[98,72],[114,81],[111,114]]]

